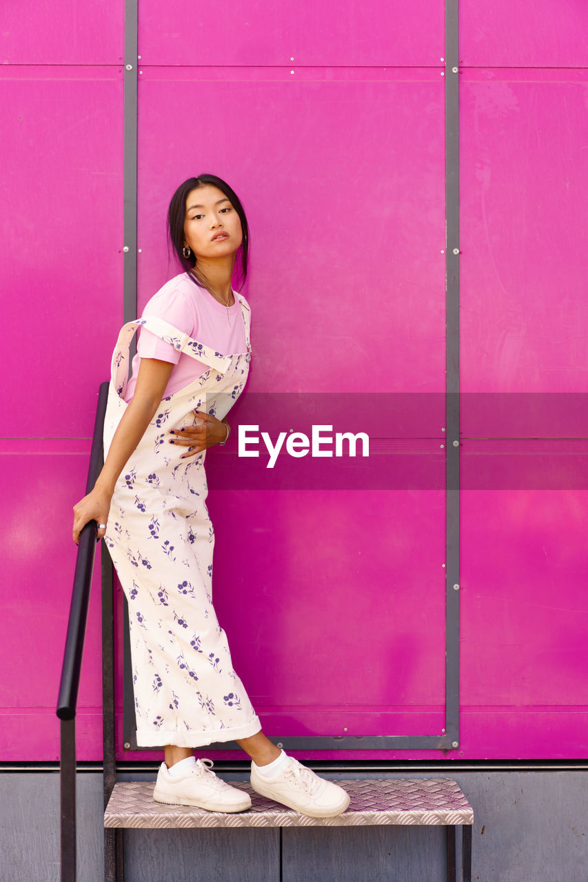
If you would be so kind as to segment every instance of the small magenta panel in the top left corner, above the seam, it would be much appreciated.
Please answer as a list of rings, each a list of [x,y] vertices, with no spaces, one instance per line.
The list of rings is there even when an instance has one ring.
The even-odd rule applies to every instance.
[[[3,64],[119,64],[123,52],[123,3],[27,0],[2,6]]]

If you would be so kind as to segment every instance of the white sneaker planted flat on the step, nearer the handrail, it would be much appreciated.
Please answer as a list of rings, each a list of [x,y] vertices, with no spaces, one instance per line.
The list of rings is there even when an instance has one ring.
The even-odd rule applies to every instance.
[[[208,765],[208,763],[210,765]],[[249,794],[231,787],[212,771],[212,759],[197,759],[181,777],[170,775],[165,763],[159,767],[153,798],[168,805],[196,805],[208,811],[245,811]]]

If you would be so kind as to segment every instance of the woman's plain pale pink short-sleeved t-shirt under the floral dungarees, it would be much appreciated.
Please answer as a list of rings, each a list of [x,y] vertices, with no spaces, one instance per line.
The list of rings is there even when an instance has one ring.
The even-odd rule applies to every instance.
[[[233,292],[234,294],[234,292]],[[241,306],[235,295],[235,303],[229,307],[222,306],[206,288],[199,288],[191,280],[188,273],[181,273],[166,282],[155,294],[143,310],[141,318],[156,316],[162,318],[182,331],[193,340],[204,343],[221,355],[237,355],[247,351],[245,322]],[[132,360],[132,376],[126,386],[124,400],[129,402],[137,385],[139,362],[141,358],[158,358],[162,362],[171,362],[168,385],[163,398],[179,392],[208,370],[208,365],[197,361],[191,355],[179,353],[170,343],[141,328],[137,342],[137,355]]]

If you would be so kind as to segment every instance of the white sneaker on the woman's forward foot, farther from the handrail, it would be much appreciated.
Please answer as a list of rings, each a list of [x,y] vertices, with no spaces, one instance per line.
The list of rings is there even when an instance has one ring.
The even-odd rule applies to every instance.
[[[350,804],[350,796],[342,787],[320,778],[294,757],[289,757],[287,765],[271,778],[252,765],[251,786],[261,796],[311,818],[334,818]]]

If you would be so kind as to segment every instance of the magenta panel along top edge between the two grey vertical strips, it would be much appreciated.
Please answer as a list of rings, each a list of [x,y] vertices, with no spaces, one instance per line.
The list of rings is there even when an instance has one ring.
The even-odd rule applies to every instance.
[[[440,64],[445,55],[440,0],[354,0],[268,4],[226,0],[177,6],[139,3],[139,52],[145,64]],[[188,36],[189,35],[189,36]]]

